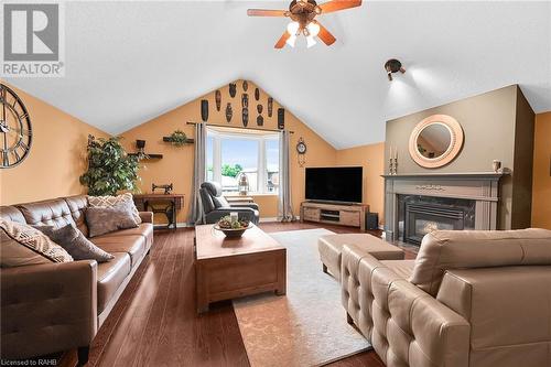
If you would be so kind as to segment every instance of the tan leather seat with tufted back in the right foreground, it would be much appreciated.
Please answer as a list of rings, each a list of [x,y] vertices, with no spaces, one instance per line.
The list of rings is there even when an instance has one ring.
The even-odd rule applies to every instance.
[[[387,366],[551,366],[551,230],[435,231],[415,260],[342,256],[348,320]]]

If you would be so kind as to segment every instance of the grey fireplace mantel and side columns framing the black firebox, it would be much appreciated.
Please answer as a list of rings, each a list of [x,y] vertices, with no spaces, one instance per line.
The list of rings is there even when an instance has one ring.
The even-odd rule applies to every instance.
[[[398,195],[465,198],[476,202],[475,229],[496,229],[499,180],[507,173],[412,173],[386,174],[385,233],[398,240]]]

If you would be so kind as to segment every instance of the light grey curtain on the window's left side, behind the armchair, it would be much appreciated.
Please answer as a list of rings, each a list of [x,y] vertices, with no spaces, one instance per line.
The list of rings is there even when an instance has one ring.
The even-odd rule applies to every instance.
[[[193,198],[192,198],[192,213],[188,222],[192,224],[205,223],[205,212],[201,202],[199,188],[201,184],[206,179],[206,123],[197,123],[195,126],[195,163],[193,168]]]

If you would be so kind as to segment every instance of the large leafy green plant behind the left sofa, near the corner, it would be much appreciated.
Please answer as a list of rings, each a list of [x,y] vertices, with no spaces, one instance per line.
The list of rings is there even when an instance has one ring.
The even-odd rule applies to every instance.
[[[137,190],[139,158],[128,155],[120,139],[88,137],[88,170],[80,176],[80,184],[88,187],[89,195]]]

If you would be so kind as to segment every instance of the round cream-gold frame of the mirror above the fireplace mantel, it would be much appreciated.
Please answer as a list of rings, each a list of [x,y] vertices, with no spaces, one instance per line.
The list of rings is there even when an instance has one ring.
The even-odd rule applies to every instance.
[[[421,132],[431,125],[443,125],[447,128],[451,136],[451,142],[446,151],[436,158],[426,158],[419,152],[417,141]],[[419,122],[410,136],[410,155],[417,164],[425,169],[437,169],[452,162],[461,151],[463,147],[463,129],[460,122],[451,116],[447,115],[432,115]]]

